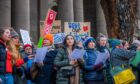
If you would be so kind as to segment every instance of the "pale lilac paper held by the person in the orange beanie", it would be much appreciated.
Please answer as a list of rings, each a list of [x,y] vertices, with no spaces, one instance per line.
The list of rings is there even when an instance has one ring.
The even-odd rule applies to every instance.
[[[47,47],[37,48],[34,62],[43,62],[47,51],[48,51]]]

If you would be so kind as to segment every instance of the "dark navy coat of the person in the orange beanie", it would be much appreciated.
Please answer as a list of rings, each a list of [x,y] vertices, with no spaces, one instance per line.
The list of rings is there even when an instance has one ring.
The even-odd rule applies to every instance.
[[[36,84],[53,84],[53,63],[57,51],[52,49],[46,53],[43,60],[43,67],[39,69],[39,74],[34,79]]]

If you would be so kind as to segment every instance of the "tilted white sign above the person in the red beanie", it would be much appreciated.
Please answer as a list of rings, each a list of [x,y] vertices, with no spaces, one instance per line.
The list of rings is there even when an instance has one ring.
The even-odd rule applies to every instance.
[[[29,32],[26,30],[20,29],[20,33],[21,33],[21,38],[22,38],[24,45],[25,44],[32,45],[31,40],[30,40],[30,36],[29,36]]]

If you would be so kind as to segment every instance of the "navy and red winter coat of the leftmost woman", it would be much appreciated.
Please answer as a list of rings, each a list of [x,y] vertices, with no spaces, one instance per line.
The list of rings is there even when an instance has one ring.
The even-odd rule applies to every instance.
[[[12,55],[11,52],[7,49],[6,45],[2,40],[0,40],[0,73],[12,73],[13,72],[13,65],[11,63]],[[16,61],[16,67],[21,66],[24,64],[25,61],[28,59],[18,59]]]

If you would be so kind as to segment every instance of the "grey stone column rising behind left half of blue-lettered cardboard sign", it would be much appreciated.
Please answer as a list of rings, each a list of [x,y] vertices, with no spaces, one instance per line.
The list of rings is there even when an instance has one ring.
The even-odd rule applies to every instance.
[[[74,21],[73,0],[58,0],[58,19],[62,21],[62,31],[64,22]]]

